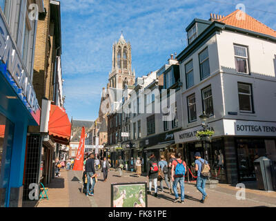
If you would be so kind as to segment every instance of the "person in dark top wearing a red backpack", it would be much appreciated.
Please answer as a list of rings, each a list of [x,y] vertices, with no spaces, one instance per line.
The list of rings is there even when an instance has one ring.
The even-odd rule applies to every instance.
[[[148,166],[147,166],[147,178],[149,179],[148,182],[148,193],[151,194],[151,187],[152,187],[152,181],[155,185],[155,197],[157,197],[157,177],[158,177],[158,162],[155,158],[155,154],[150,154],[150,160],[148,160]]]

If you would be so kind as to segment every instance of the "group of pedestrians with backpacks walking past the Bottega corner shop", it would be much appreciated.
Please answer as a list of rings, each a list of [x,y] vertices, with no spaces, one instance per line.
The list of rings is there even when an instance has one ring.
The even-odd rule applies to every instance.
[[[210,173],[208,162],[201,158],[200,153],[195,153],[195,171],[197,171],[197,189],[202,194],[200,200],[204,203],[208,195],[205,191],[206,180]],[[181,153],[175,155],[172,153],[170,159],[166,162],[164,155],[160,156],[158,161],[154,153],[150,154],[147,164],[146,176],[148,177],[148,194],[152,194],[152,183],[154,185],[154,195],[158,197],[157,181],[160,182],[161,193],[164,192],[165,181],[171,194],[175,195],[174,202],[185,202],[185,175],[187,173],[186,162],[183,160]],[[180,189],[180,199],[178,190]]]

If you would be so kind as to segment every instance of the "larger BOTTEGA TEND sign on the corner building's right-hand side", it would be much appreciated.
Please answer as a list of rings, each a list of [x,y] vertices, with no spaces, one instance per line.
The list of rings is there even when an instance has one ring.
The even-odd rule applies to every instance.
[[[224,119],[226,135],[276,136],[276,123]]]

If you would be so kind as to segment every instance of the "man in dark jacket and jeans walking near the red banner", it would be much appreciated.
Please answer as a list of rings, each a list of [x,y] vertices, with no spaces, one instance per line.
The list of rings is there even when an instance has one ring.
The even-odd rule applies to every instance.
[[[86,166],[85,166],[86,176],[87,176],[87,185],[86,185],[86,196],[88,195],[94,195],[94,186],[96,183],[95,180],[95,156],[94,154],[90,153],[89,159],[86,160]],[[90,187],[90,177],[92,177],[92,186]]]

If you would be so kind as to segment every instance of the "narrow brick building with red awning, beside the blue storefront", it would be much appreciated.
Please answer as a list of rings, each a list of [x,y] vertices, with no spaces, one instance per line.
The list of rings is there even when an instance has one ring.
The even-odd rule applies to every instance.
[[[63,108],[61,68],[61,9],[59,1],[41,1],[37,17],[32,84],[41,106],[40,126],[29,126],[24,167],[23,202],[29,199],[29,185],[48,186],[55,178],[55,159],[64,158],[71,124]]]

